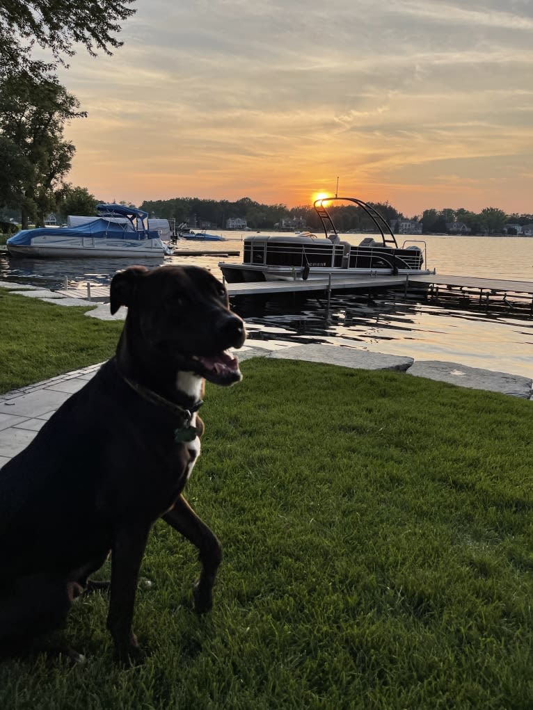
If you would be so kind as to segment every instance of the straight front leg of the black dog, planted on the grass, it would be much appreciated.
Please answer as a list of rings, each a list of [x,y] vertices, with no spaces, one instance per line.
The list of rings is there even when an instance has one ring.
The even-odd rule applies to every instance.
[[[117,528],[114,533],[107,628],[114,640],[115,658],[120,663],[135,662],[141,655],[131,624],[139,569],[150,527],[128,525]]]

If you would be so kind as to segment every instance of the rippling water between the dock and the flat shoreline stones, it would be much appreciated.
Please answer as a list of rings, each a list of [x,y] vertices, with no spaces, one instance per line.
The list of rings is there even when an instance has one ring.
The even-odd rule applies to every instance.
[[[332,343],[533,377],[531,320],[404,302],[394,294],[373,305],[357,297],[334,297],[329,315],[323,304],[316,301],[309,308],[310,303],[297,312],[280,302],[263,304],[259,313],[235,308],[247,322],[251,344]]]

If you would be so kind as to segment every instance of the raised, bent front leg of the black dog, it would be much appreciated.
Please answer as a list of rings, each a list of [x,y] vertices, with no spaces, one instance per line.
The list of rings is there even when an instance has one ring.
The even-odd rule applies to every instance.
[[[193,588],[195,610],[199,613],[209,611],[212,607],[212,586],[222,561],[220,542],[183,496],[178,498],[172,510],[163,515],[163,520],[198,547],[202,571]]]

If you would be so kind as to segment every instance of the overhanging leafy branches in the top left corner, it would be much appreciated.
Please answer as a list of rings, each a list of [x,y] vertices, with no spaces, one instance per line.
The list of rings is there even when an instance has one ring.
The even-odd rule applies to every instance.
[[[48,50],[52,62],[65,63],[75,45],[91,55],[112,54],[122,21],[135,10],[135,0],[3,0],[0,4],[0,70],[21,67],[50,70],[41,60],[30,60],[36,47]]]

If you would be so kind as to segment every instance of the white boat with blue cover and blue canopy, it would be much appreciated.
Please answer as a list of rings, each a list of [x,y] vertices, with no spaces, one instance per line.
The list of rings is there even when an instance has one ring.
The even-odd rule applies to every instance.
[[[11,256],[30,258],[162,258],[172,250],[161,229],[150,229],[148,212],[123,204],[98,204],[99,216],[77,226],[23,229],[7,240]]]

